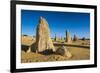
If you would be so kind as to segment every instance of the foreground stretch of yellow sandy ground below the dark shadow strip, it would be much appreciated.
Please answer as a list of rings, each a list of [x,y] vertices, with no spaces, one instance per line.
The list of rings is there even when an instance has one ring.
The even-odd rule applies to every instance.
[[[88,60],[90,58],[90,49],[89,48],[77,48],[77,47],[67,47],[67,49],[72,54],[71,58],[65,56],[51,54],[51,55],[42,55],[37,53],[21,53],[21,62],[46,62],[46,61],[63,61],[63,60]]]

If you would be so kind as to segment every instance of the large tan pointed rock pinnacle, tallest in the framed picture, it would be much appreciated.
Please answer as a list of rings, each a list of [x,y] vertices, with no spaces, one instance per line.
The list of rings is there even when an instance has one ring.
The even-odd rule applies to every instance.
[[[36,51],[43,52],[46,50],[55,51],[55,47],[50,37],[50,29],[45,18],[40,17],[36,30]]]

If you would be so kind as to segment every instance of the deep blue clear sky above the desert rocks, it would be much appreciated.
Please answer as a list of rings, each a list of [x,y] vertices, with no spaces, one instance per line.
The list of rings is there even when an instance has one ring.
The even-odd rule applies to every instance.
[[[68,30],[73,37],[90,37],[90,14],[76,12],[53,12],[21,10],[22,35],[36,36],[36,27],[40,16],[44,17],[50,27],[51,37],[65,37]]]

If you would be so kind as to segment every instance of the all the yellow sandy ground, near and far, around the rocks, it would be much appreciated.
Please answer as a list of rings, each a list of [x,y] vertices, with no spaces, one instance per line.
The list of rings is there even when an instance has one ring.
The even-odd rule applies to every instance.
[[[35,39],[29,36],[22,37],[22,44],[24,45],[31,45],[33,42],[35,42]],[[62,44],[65,44],[66,49],[69,50],[69,52],[72,54],[71,58],[67,58],[65,56],[57,55],[57,54],[51,54],[51,55],[43,55],[39,53],[26,53],[24,51],[21,52],[21,62],[22,63],[28,63],[28,62],[47,62],[47,61],[71,61],[71,60],[88,60],[90,58],[90,41],[89,40],[78,40],[73,41],[72,43],[68,44],[66,42],[62,43],[62,40],[60,42],[53,42],[56,49],[59,46],[62,46]],[[59,45],[60,44],[60,45]],[[68,46],[70,45],[70,46]],[[72,45],[78,45],[78,46],[72,46]],[[86,46],[86,47],[84,47]]]

